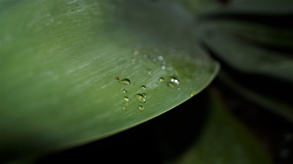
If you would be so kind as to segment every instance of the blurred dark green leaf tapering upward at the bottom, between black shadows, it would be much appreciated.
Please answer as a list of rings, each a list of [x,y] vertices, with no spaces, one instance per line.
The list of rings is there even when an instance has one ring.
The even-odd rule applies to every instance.
[[[198,141],[176,163],[271,163],[260,142],[211,93],[209,119]]]

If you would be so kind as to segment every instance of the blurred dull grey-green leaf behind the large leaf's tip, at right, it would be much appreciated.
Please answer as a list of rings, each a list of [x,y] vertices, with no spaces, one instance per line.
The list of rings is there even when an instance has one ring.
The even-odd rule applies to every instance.
[[[292,41],[282,38],[288,31],[280,32],[278,37],[267,36],[270,32],[276,32],[277,29],[265,28],[251,22],[233,22],[231,20],[214,20],[200,25],[199,35],[215,54],[230,67],[250,74],[263,74],[293,82],[293,58],[286,53],[273,51],[270,49],[255,46],[250,42],[244,41],[243,36],[253,37],[251,29],[258,28],[265,33],[264,35],[254,35],[253,40],[259,40],[261,37],[268,37],[269,44],[289,45]],[[239,30],[242,29],[242,30]],[[267,30],[267,31],[265,31]],[[236,37],[233,32],[242,33],[242,37]],[[260,32],[262,33],[262,32]],[[290,34],[290,33],[288,33]],[[258,38],[260,37],[260,38]],[[252,38],[250,38],[252,40]],[[282,42],[282,43],[280,43]],[[285,43],[284,43],[285,42]]]

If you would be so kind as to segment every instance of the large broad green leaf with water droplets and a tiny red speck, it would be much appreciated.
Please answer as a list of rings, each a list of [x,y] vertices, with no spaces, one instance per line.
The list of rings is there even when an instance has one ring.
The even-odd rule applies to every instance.
[[[199,93],[219,71],[198,48],[192,17],[170,2],[5,2],[3,161],[131,128]],[[144,103],[134,97],[142,93]]]

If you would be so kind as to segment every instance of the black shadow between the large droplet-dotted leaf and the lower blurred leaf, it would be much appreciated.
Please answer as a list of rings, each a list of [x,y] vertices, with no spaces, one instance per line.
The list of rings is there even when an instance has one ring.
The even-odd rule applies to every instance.
[[[44,163],[163,163],[184,152],[205,123],[207,93],[116,135],[38,159]]]

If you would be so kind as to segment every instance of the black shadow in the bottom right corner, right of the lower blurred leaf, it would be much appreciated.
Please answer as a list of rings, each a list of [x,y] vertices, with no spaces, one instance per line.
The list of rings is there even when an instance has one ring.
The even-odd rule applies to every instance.
[[[218,78],[214,81],[232,113],[256,135],[276,164],[293,162],[293,125],[281,116],[250,102]]]

